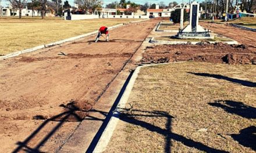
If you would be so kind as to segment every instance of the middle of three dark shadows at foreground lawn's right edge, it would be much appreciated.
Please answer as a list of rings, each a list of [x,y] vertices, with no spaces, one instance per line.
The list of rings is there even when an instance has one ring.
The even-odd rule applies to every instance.
[[[242,102],[232,100],[215,100],[214,103],[208,104],[214,107],[220,107],[226,112],[242,116],[243,118],[256,119],[256,108]]]

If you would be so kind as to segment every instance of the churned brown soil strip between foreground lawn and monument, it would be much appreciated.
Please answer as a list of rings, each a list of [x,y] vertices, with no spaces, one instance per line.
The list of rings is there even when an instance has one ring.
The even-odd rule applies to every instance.
[[[209,63],[255,64],[256,52],[246,45],[198,43],[197,45],[158,45],[147,48],[141,63],[204,61]]]

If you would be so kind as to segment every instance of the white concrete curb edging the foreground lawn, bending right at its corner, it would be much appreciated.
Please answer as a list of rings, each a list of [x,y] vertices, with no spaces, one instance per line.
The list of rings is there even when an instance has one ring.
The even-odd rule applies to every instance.
[[[113,132],[116,129],[116,125],[118,125],[118,121],[120,118],[120,110],[118,108],[125,108],[126,102],[129,100],[131,90],[133,89],[134,83],[138,77],[138,73],[140,72],[140,68],[143,67],[152,67],[156,65],[165,65],[165,64],[176,64],[176,63],[185,63],[186,61],[179,61],[179,62],[173,62],[173,63],[160,63],[160,64],[147,64],[147,65],[141,65],[136,68],[136,70],[133,72],[133,75],[130,78],[130,81],[128,85],[126,86],[125,92],[123,93],[117,109],[113,112],[113,115],[111,116],[110,121],[108,122],[108,125],[106,126],[106,129],[102,133],[98,143],[96,144],[94,148],[94,153],[100,153],[104,152],[106,147],[108,146],[109,141],[111,140],[111,137],[113,135]]]

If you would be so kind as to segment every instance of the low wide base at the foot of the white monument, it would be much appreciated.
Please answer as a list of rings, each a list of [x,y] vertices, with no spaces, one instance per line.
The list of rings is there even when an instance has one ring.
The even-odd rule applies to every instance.
[[[179,39],[213,39],[208,31],[205,32],[178,32],[176,38]]]

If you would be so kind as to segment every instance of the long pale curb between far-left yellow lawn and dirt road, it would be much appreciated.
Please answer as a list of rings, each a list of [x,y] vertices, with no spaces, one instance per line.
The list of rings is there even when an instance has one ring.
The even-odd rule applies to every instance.
[[[131,21],[129,23],[138,23],[138,22],[147,21],[147,20],[150,20],[150,19]],[[129,23],[127,23],[127,24],[129,24]],[[114,29],[114,28],[118,28],[118,27],[121,27],[121,26],[123,26],[125,24],[123,23],[123,24],[113,25],[112,27],[109,27],[109,29],[111,30],[111,29]],[[69,42],[69,41],[74,41],[76,39],[80,39],[80,38],[83,38],[83,37],[88,37],[90,35],[97,34],[97,33],[98,33],[98,30],[97,31],[93,31],[93,32],[89,32],[87,34],[78,35],[76,37],[71,37],[71,38],[63,39],[61,41],[57,41],[57,42],[52,42],[52,43],[48,43],[48,44],[45,44],[45,45],[36,46],[34,48],[29,48],[29,49],[20,50],[20,51],[14,52],[14,53],[9,53],[9,54],[6,54],[5,56],[0,56],[0,60],[9,59],[10,57],[19,56],[20,54],[23,54],[23,53],[34,52],[35,50],[38,50],[38,49],[44,49],[44,48],[49,48],[51,46],[60,45],[61,43],[65,43],[65,42]]]

